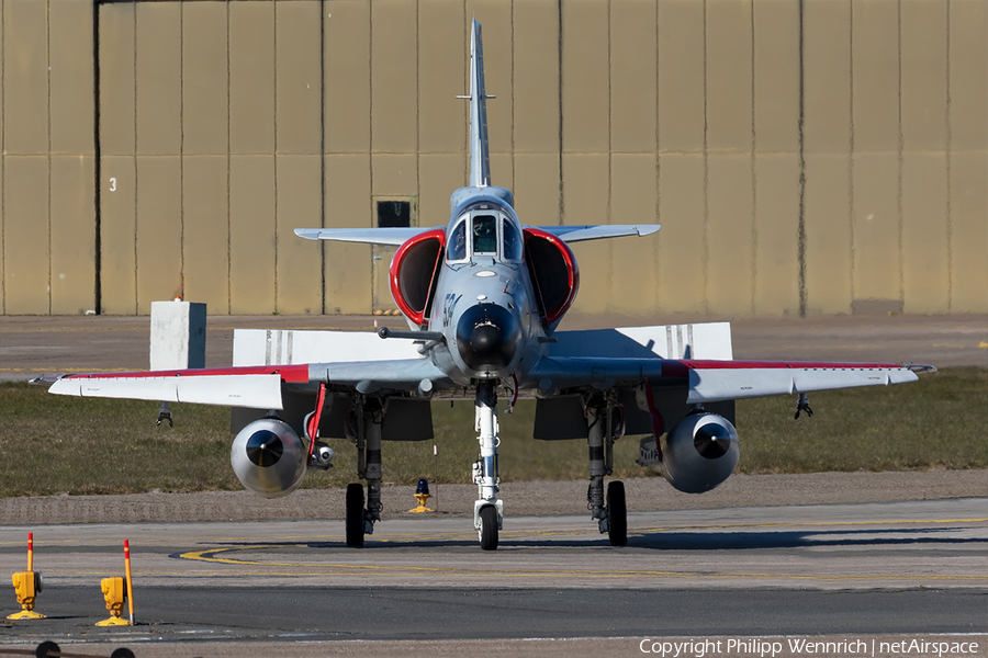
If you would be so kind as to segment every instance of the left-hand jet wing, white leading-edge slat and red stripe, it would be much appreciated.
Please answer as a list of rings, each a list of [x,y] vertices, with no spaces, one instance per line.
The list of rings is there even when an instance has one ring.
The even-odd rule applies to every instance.
[[[427,359],[313,363],[132,373],[92,373],[40,377],[49,393],[255,409],[283,409],[285,387],[322,382],[360,393],[412,390],[423,379],[445,384],[447,377]]]

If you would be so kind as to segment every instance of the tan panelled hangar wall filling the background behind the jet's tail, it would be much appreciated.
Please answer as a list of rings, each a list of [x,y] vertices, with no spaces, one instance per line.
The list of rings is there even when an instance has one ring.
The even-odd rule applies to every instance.
[[[523,222],[663,225],[572,313],[988,311],[985,0],[2,0],[0,310],[392,308],[292,229],[445,224],[472,16]]]

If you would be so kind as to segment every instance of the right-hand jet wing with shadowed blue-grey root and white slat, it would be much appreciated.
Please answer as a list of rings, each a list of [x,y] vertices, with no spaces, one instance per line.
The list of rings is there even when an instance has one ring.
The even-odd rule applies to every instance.
[[[528,374],[523,387],[536,387],[546,379],[555,390],[637,386],[650,381],[685,385],[686,402],[698,404],[903,384],[914,382],[917,372],[935,370],[892,363],[547,358]]]

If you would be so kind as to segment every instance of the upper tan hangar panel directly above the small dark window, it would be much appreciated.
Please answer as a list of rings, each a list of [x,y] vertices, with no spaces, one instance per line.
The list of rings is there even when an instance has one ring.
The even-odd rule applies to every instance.
[[[371,124],[374,152],[418,149],[418,35],[414,0],[371,3]]]

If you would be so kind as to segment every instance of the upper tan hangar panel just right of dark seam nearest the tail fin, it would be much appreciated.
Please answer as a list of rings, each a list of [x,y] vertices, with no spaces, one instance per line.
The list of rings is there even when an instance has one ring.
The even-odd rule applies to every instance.
[[[583,0],[560,7],[563,151],[607,152],[610,148],[610,99],[606,93],[610,87],[609,5],[606,0]],[[593,91],[587,93],[588,90]]]

